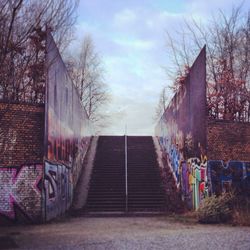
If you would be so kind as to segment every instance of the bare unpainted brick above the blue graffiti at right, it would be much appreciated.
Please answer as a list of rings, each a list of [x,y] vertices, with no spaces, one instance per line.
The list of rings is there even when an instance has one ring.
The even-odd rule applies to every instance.
[[[250,161],[250,123],[208,121],[207,156],[225,162]]]

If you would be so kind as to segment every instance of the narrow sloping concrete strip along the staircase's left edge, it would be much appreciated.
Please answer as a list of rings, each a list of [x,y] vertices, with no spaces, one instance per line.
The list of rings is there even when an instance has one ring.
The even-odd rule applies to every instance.
[[[94,166],[98,138],[98,136],[93,137],[90,144],[90,148],[86,155],[86,159],[84,159],[83,170],[79,177],[79,181],[77,183],[76,190],[74,193],[72,210],[82,209],[86,204],[89,190],[89,181]]]

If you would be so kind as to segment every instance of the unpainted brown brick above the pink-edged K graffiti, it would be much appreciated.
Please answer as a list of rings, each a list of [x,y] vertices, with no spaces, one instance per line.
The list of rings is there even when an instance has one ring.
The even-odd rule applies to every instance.
[[[0,103],[0,166],[43,161],[44,105]]]

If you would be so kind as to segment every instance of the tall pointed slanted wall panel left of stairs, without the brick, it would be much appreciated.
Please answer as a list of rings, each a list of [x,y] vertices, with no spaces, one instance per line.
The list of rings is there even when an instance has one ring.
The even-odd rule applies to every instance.
[[[91,125],[50,33],[46,50],[45,215],[49,220],[71,204],[90,143]]]

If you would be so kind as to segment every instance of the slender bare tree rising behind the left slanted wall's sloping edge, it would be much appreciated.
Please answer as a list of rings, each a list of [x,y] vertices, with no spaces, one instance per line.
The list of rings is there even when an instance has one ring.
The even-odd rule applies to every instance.
[[[102,61],[90,35],[85,36],[78,58],[71,59],[68,69],[89,119],[99,128],[105,126],[107,116],[103,106],[108,102],[109,94]]]

